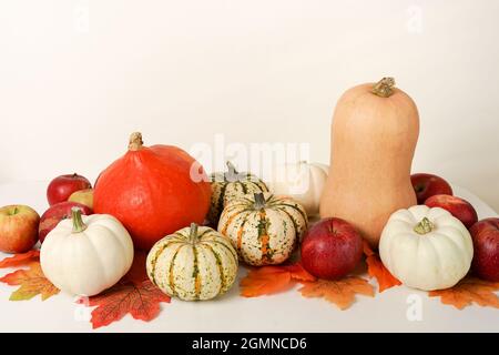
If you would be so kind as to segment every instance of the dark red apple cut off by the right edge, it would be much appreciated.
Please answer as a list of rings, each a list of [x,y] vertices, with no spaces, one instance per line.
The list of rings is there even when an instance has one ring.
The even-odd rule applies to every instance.
[[[477,222],[470,232],[473,239],[472,270],[480,278],[499,282],[499,219]]]

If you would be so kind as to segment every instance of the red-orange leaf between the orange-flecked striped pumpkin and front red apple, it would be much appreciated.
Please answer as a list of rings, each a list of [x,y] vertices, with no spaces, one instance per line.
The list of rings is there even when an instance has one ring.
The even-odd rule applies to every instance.
[[[241,295],[244,297],[272,295],[292,288],[296,282],[314,280],[315,277],[299,263],[251,268],[246,277],[241,280]]]

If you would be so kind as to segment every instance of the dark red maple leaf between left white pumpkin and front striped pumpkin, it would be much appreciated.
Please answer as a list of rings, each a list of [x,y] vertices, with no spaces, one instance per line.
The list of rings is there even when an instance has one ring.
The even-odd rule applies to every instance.
[[[116,285],[96,296],[77,301],[95,307],[90,321],[94,329],[118,322],[126,314],[135,320],[152,321],[160,314],[160,303],[170,303],[170,296],[147,280],[145,256],[145,253],[135,251],[132,267]]]

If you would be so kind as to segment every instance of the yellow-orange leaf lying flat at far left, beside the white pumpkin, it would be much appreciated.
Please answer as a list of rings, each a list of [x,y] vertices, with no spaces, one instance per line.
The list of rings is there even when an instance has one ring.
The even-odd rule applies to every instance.
[[[31,262],[27,270],[18,270],[0,278],[0,282],[8,285],[21,286],[10,295],[10,301],[27,301],[39,294],[42,301],[45,301],[59,293],[59,290],[43,275],[40,262]]]

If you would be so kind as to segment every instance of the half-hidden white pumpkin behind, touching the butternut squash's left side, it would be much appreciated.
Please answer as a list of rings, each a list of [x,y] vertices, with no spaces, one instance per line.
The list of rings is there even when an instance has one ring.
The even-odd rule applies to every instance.
[[[268,187],[276,195],[286,195],[304,206],[308,216],[319,213],[320,195],[329,166],[319,163],[286,163],[274,166]]]

